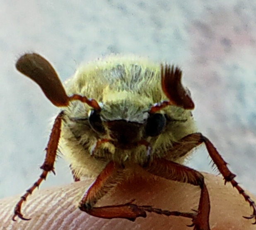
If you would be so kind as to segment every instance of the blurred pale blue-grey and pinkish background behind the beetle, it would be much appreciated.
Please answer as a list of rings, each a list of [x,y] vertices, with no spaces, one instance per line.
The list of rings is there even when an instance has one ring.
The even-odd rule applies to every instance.
[[[0,0],[0,198],[22,194],[38,178],[58,113],[15,70],[25,52],[46,57],[62,81],[81,62],[112,52],[178,64],[198,130],[256,195],[256,2]],[[188,165],[212,172],[203,146]],[[72,181],[61,158],[56,174],[42,187]]]

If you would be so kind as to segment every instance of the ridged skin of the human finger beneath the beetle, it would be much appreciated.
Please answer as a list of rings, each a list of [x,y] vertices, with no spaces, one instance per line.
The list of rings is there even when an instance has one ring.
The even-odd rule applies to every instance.
[[[250,216],[249,204],[244,201],[232,185],[220,176],[203,173],[211,201],[211,230],[255,230],[253,220],[242,216]],[[72,229],[171,229],[193,230],[187,227],[192,222],[188,218],[162,216],[147,213],[146,218],[137,218],[135,222],[126,219],[101,219],[89,216],[77,206],[85,190],[92,183],[91,179],[69,185],[52,187],[35,191],[22,206],[24,217],[30,221],[17,218],[13,222],[13,208],[19,196],[0,200],[0,229],[12,230],[72,230]],[[131,202],[138,205],[152,205],[169,211],[193,212],[197,209],[200,195],[199,187],[177,183],[152,176],[144,171],[137,171],[133,178],[118,185],[110,194],[102,198],[97,206],[124,204]],[[251,194],[249,194],[251,195]],[[251,195],[255,200],[255,197]],[[2,228],[1,228],[2,227]]]

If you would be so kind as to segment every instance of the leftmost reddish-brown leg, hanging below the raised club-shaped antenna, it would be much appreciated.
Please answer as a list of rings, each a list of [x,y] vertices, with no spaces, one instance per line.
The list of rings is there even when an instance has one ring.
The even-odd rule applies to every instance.
[[[27,192],[21,197],[19,202],[16,204],[14,208],[14,215],[12,217],[13,221],[15,221],[16,216],[18,216],[24,221],[30,220],[30,218],[24,218],[21,213],[21,206],[23,202],[26,201],[27,197],[30,194],[32,194],[32,192],[36,189],[36,187],[39,187],[41,182],[46,179],[48,172],[52,171],[55,174],[53,166],[56,158],[58,142],[60,139],[60,127],[61,127],[62,116],[63,116],[63,112],[60,112],[60,114],[58,114],[58,116],[54,121],[53,128],[51,130],[50,139],[46,147],[46,158],[43,162],[43,165],[40,167],[41,169],[43,169],[43,173],[40,175],[40,178],[36,181],[36,183],[34,183],[34,185],[27,190]]]

